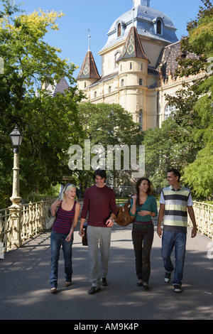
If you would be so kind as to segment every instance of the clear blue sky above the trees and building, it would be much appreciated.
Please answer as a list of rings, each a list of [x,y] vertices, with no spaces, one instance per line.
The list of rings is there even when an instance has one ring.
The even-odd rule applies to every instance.
[[[51,31],[45,36],[45,42],[62,50],[60,58],[68,58],[80,68],[88,50],[88,28],[90,29],[90,50],[102,74],[102,59],[98,54],[107,43],[107,33],[119,16],[132,8],[132,0],[16,0],[23,4],[26,14],[35,9],[44,11],[62,11],[65,16],[58,18],[59,31]],[[201,0],[151,0],[151,8],[167,15],[178,29],[178,39],[187,35],[187,22],[195,19]],[[1,7],[0,7],[1,9]],[[74,72],[77,77],[80,68]]]

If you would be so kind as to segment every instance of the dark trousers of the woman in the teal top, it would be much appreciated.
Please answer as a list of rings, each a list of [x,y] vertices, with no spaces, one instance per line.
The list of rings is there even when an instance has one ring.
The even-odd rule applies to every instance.
[[[136,261],[136,275],[138,279],[142,279],[143,283],[148,284],[151,274],[151,247],[153,244],[154,229],[139,229],[133,224],[132,239]]]

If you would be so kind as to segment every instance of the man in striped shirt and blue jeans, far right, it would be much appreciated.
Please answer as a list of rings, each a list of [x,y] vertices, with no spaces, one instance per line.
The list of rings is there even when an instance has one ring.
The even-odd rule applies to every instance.
[[[173,286],[175,293],[182,292],[182,274],[185,262],[185,244],[187,234],[187,212],[192,220],[192,238],[197,235],[195,213],[193,210],[190,189],[180,185],[180,173],[173,168],[168,170],[168,188],[160,195],[160,210],[158,214],[158,235],[162,236],[160,227],[164,217],[162,237],[162,258],[165,268],[165,283],[169,283],[175,269]],[[171,262],[171,254],[175,247],[175,268]]]

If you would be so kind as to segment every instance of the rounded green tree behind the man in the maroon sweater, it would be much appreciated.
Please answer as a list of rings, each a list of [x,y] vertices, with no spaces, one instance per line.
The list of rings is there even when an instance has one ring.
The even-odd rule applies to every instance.
[[[107,146],[119,147],[126,145],[140,145],[143,138],[139,124],[133,122],[133,117],[126,112],[119,104],[92,104],[86,102],[78,104],[78,114],[80,125],[82,126],[84,136],[80,141],[80,145],[84,146],[84,139],[89,139],[91,147],[94,145],[102,145],[104,147],[104,155],[106,158],[107,169]],[[91,154],[91,159],[96,154]],[[121,152],[123,157],[123,152]],[[124,159],[121,158],[121,171],[109,171],[109,178],[113,178],[114,182],[131,183],[128,171],[123,171]],[[92,181],[92,171],[90,172],[90,181]],[[83,188],[88,185],[88,171],[77,171],[77,180],[83,184]],[[93,181],[92,181],[93,182]]]

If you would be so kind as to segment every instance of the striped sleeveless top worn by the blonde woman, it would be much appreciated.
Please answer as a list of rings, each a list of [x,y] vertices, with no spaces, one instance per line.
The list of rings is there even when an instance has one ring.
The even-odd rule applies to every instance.
[[[65,235],[68,235],[70,233],[70,229],[72,226],[72,220],[75,216],[76,203],[77,201],[75,200],[72,210],[70,211],[63,210],[61,207],[62,202],[60,203],[60,206],[57,212],[57,217],[54,222],[53,229],[52,229],[54,232],[62,233]]]

